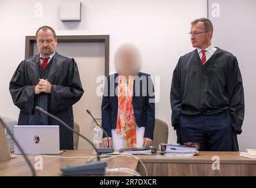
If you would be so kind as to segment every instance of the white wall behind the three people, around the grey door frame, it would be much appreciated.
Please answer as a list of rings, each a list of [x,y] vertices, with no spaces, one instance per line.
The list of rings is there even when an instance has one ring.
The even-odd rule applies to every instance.
[[[42,17],[35,4],[42,4]],[[24,59],[25,35],[50,25],[57,35],[110,35],[110,72],[113,56],[124,42],[137,45],[143,56],[142,71],[160,75],[160,101],[156,117],[170,125],[170,82],[181,55],[192,51],[188,32],[193,19],[206,17],[206,0],[91,0],[82,2],[81,22],[61,22],[60,1],[0,0],[0,115],[18,119],[9,95],[9,80]],[[170,129],[172,130],[172,128]],[[169,141],[176,142],[175,132]]]

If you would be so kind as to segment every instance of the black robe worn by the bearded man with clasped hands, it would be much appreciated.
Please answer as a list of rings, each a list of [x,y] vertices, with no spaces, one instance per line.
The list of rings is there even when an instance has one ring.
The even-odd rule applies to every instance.
[[[35,85],[39,79],[47,79],[51,83],[51,93],[35,94]],[[74,127],[72,106],[80,100],[84,93],[74,59],[59,55],[57,52],[45,68],[40,66],[40,55],[22,61],[15,70],[9,84],[9,91],[14,104],[20,109],[18,125],[29,125],[31,116],[38,112],[37,105],[46,105],[48,112]],[[42,102],[47,96],[47,104]],[[42,117],[38,114],[37,116]],[[60,149],[73,149],[73,133],[56,120],[48,117],[48,125],[60,126]],[[33,123],[34,124],[34,123]],[[38,123],[38,125],[44,125]]]

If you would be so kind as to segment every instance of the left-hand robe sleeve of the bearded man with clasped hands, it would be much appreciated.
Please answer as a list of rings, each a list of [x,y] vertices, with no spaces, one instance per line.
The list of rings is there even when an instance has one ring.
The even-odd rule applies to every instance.
[[[24,63],[25,61],[22,61],[15,70],[9,83],[9,92],[14,105],[20,110],[31,114],[34,109],[35,85],[26,85]]]

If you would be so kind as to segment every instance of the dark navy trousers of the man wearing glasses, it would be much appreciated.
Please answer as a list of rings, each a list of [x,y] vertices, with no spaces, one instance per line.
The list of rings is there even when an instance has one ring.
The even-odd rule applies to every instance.
[[[238,151],[237,134],[227,112],[215,115],[181,115],[176,130],[178,140],[200,143],[201,151]]]

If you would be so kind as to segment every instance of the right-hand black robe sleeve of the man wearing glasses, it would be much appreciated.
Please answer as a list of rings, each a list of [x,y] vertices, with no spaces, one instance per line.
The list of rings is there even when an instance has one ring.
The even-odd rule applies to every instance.
[[[242,76],[235,56],[229,58],[229,63],[227,76],[229,108],[227,111],[231,117],[232,127],[237,134],[241,134],[242,122],[244,121],[244,88],[242,86]]]

